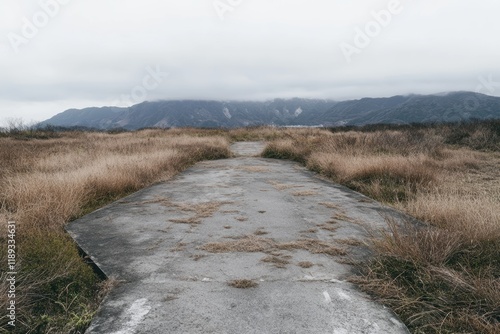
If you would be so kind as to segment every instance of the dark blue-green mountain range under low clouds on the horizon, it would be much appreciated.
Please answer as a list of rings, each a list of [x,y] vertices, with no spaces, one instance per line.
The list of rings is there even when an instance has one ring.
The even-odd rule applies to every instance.
[[[129,108],[70,109],[41,125],[135,130],[144,127],[187,126],[405,124],[490,118],[500,118],[500,98],[456,92],[444,95],[363,98],[343,102],[298,98],[266,102],[143,102]]]

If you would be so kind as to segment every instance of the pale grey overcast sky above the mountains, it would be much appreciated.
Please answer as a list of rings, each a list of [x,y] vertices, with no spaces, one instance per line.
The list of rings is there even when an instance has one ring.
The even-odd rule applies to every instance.
[[[0,125],[143,100],[500,96],[498,0],[1,0]]]

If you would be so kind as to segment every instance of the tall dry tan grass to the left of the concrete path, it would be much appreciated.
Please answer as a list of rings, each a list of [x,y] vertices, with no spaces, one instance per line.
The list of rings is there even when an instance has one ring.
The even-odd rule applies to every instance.
[[[193,163],[230,156],[211,133],[145,130],[59,134],[47,140],[0,138],[0,244],[16,221],[17,333],[82,332],[96,310],[99,279],[64,225],[119,197],[171,178]],[[6,261],[6,247],[0,261]],[[2,266],[0,308],[6,309]],[[0,328],[7,330],[5,312]]]

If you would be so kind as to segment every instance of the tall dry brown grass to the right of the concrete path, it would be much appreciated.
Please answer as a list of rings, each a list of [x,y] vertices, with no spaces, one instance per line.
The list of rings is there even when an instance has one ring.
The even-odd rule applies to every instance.
[[[498,124],[292,134],[263,155],[299,161],[428,224],[392,222],[354,280],[412,332],[500,333]]]

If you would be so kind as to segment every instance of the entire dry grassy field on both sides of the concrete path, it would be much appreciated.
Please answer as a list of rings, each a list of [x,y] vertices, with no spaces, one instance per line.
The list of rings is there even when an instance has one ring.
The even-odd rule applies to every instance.
[[[500,332],[499,122],[0,135],[0,245],[7,221],[17,225],[16,332],[81,333],[108,289],[64,232],[68,221],[248,140],[426,222],[373,231],[374,257],[353,279],[412,332]]]

